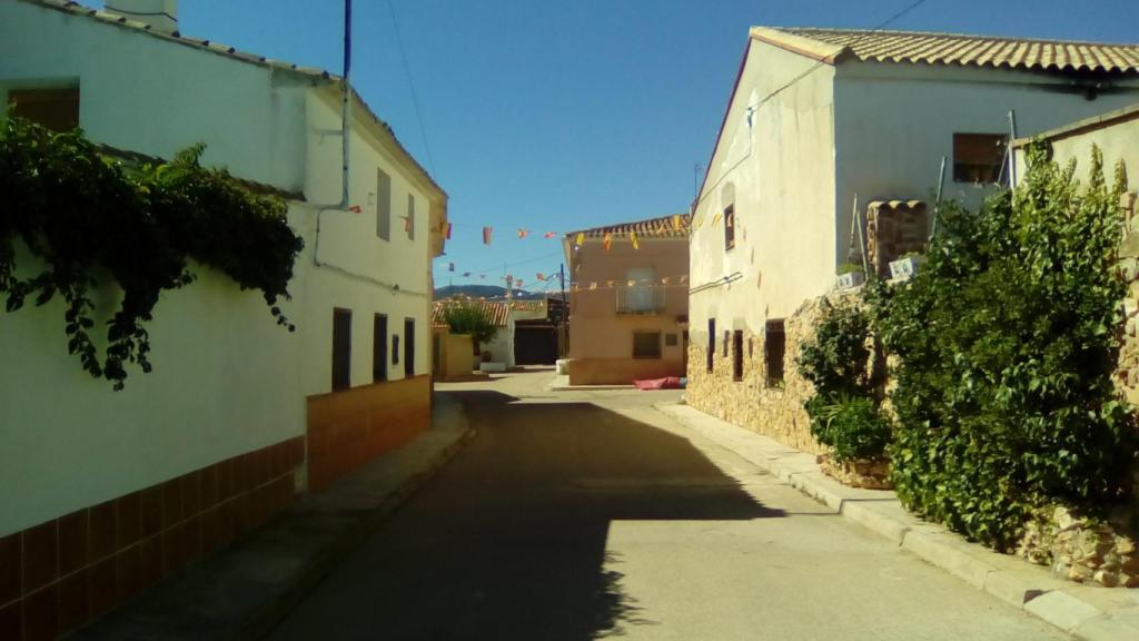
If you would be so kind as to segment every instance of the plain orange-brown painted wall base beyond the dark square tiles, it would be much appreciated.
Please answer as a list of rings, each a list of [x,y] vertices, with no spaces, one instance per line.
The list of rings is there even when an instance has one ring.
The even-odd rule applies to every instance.
[[[320,489],[431,425],[431,376],[309,397],[309,488]]]

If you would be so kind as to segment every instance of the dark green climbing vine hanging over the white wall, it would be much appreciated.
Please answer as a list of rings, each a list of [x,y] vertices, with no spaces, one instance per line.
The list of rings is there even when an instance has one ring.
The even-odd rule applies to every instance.
[[[289,298],[303,246],[286,221],[287,205],[249,192],[223,169],[202,167],[204,148],[128,168],[79,130],[57,133],[16,117],[0,122],[5,308],[14,313],[27,301],[43,306],[62,297],[68,351],[116,390],[128,365],[151,370],[147,323],[163,291],[194,281],[190,260],[243,290],[260,290],[277,324],[294,330],[278,307]],[[104,342],[92,335],[91,297],[108,282],[122,295]]]

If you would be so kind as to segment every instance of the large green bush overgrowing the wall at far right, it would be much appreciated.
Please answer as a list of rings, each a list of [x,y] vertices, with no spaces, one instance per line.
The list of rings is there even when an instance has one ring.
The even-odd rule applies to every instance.
[[[1095,512],[1128,492],[1131,408],[1112,373],[1126,283],[1118,196],[1033,147],[1015,193],[939,212],[920,271],[874,284],[875,333],[900,358],[892,478],[915,512],[1006,550],[1030,512]]]

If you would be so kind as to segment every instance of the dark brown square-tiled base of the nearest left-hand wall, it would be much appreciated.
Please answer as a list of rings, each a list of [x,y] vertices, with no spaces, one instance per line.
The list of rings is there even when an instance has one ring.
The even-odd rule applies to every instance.
[[[263,524],[295,494],[297,437],[0,538],[0,639],[54,639]]]

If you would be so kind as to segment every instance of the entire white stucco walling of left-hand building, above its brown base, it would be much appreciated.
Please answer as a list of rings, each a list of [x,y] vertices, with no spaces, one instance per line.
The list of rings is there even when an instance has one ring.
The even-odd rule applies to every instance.
[[[0,311],[0,536],[302,436],[305,397],[331,389],[334,308],[353,311],[353,386],[372,382],[375,314],[386,314],[390,334],[401,339],[404,319],[415,318],[415,373],[431,371],[426,189],[421,177],[402,169],[404,161],[362,132],[362,121],[352,179],[352,201],[362,212],[326,212],[323,266],[314,260],[318,212],[341,195],[341,120],[327,88],[117,26],[0,2],[0,92],[76,80],[81,125],[96,141],[164,157],[204,141],[206,164],[304,190],[308,203],[290,203],[289,224],[305,249],[289,284],[293,300],[281,306],[297,332],[276,325],[259,292],[196,269],[198,281],[164,295],[148,325],[154,372],[131,370],[126,389],[114,392],[67,355],[60,302]],[[405,213],[408,193],[416,196],[415,241],[401,220],[393,220],[391,242],[376,237],[369,193],[377,167],[392,176],[393,214]],[[109,313],[114,289],[97,299]],[[399,364],[388,349],[390,380],[404,376],[400,342]]]

